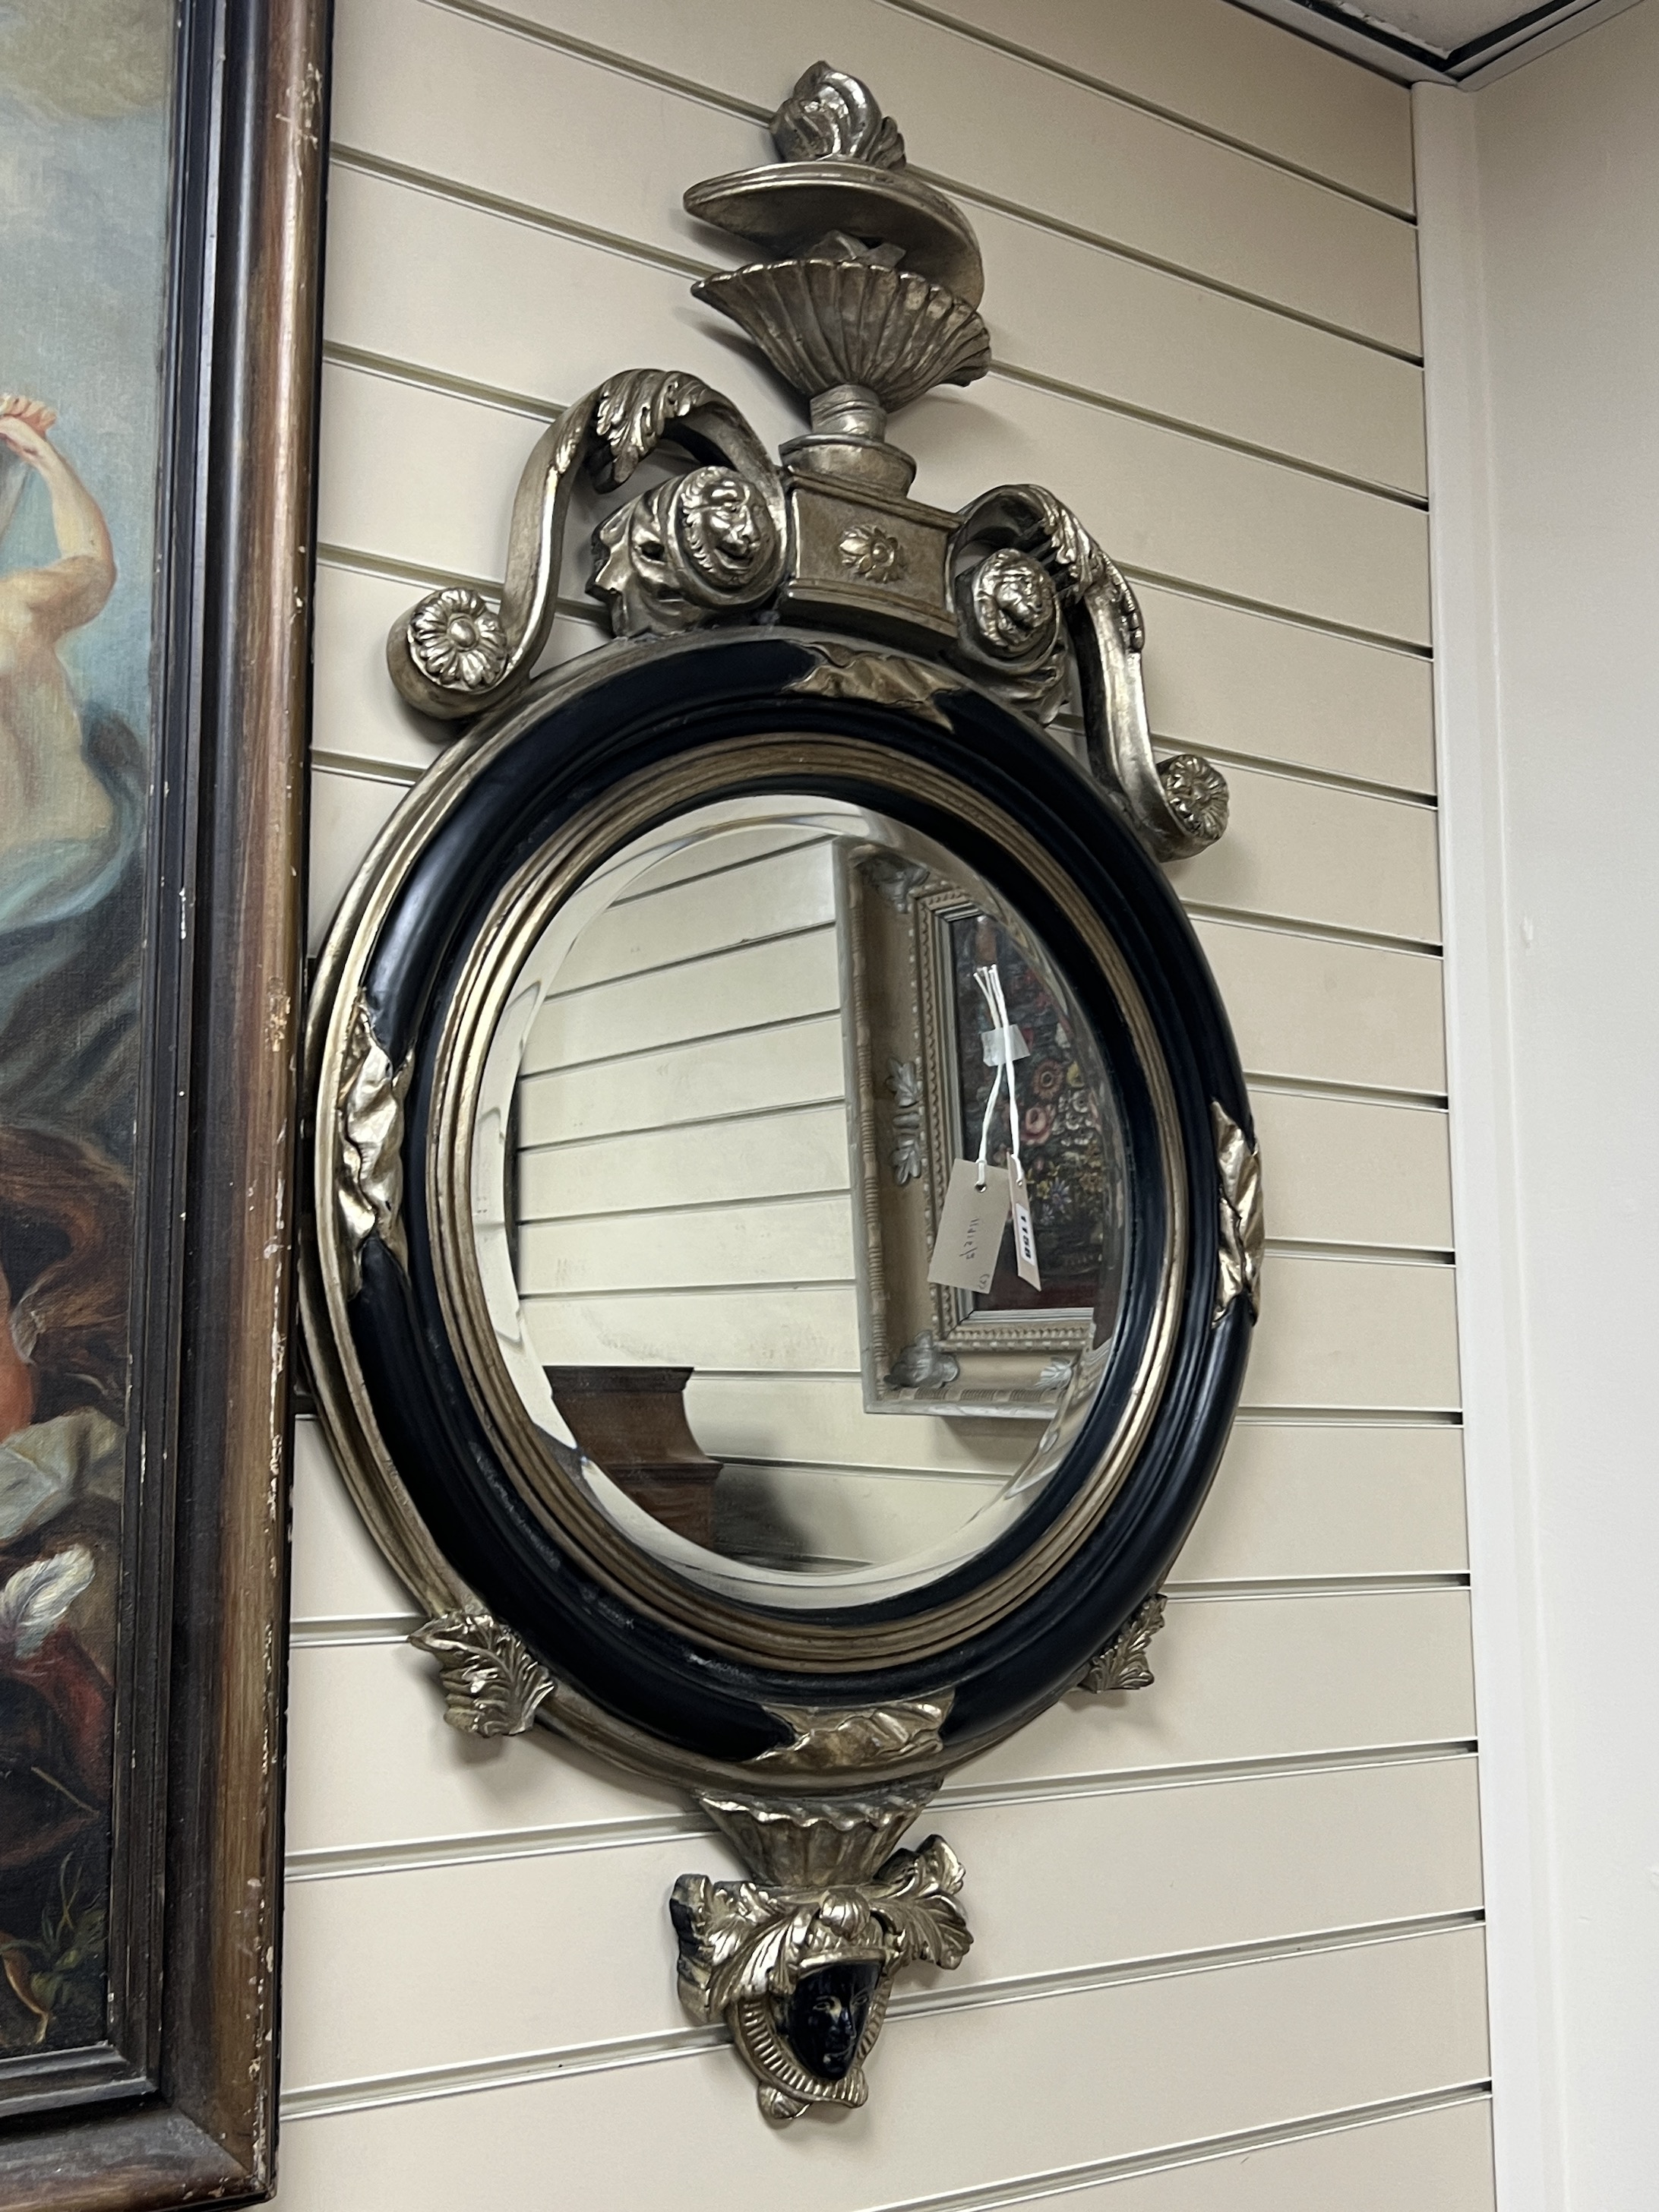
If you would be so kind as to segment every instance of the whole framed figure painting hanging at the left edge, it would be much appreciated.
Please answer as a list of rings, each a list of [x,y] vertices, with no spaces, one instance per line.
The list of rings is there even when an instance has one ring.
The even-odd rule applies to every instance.
[[[0,2201],[268,2192],[319,0],[0,11]]]

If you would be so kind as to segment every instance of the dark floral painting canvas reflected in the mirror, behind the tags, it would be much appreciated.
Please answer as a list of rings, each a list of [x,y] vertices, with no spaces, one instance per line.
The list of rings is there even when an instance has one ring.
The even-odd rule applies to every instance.
[[[1031,1053],[1015,1062],[1020,1097],[1020,1159],[1031,1192],[1031,1225],[1037,1239],[1042,1290],[1020,1279],[1013,1263],[1013,1230],[1002,1237],[991,1290],[978,1310],[1093,1307],[1099,1296],[1102,1256],[1108,1228],[1106,1139],[1099,1102],[1093,1097],[1053,993],[1026,962],[1000,922],[984,914],[949,922],[951,993],[960,1040],[962,1148],[973,1155],[984,1121],[995,1071],[980,1048],[987,1026],[984,1000],[973,982],[975,967],[995,962],[1009,1020],[1024,1033]],[[987,1157],[1009,1157],[1006,1091],[991,1119]]]

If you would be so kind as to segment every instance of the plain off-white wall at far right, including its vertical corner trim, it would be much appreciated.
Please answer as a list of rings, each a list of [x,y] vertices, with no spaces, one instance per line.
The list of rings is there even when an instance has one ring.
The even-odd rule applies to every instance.
[[[1418,100],[1500,2183],[1646,2212],[1659,4]]]

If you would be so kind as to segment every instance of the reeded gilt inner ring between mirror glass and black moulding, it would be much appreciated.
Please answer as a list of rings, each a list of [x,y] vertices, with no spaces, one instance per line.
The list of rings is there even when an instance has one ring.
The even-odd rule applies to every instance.
[[[830,785],[856,783],[865,794],[914,799],[967,823],[1006,852],[1062,911],[1097,962],[1133,1042],[1157,1126],[1166,1219],[1164,1250],[1157,1254],[1157,1294],[1137,1374],[1117,1429],[1091,1475],[1075,1484],[1062,1511],[995,1577],[933,1608],[845,1624],[825,1615],[785,1615],[728,1604],[626,1540],[599,1504],[553,1462],[520,1400],[495,1343],[471,1232],[473,1137],[489,1044],[531,949],[564,900],[635,836],[723,792],[787,790],[803,796],[841,796],[836,790],[816,790],[821,779]],[[872,796],[867,803],[878,805],[880,799]],[[438,1040],[425,1199],[434,1223],[434,1274],[445,1329],[473,1409],[513,1489],[560,1551],[624,1604],[637,1606],[690,1641],[750,1666],[810,1672],[905,1666],[949,1652],[1013,1613],[1051,1582],[1099,1526],[1150,1431],[1179,1338],[1188,1263],[1188,1190],[1179,1117],[1157,1031],[1117,942],[1044,847],[998,805],[931,763],[863,739],[792,730],[684,752],[666,765],[617,781],[573,814],[502,885],[473,938]],[[1146,1261],[1137,1265],[1144,1267]]]

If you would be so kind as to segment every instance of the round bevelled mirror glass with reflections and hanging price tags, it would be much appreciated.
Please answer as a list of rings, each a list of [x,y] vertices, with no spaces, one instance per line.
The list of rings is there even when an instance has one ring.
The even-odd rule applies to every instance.
[[[732,1601],[860,1606],[971,1559],[1110,1363],[1095,1029],[960,856],[845,801],[684,812],[557,909],[489,1042],[471,1190],[546,1484]]]

